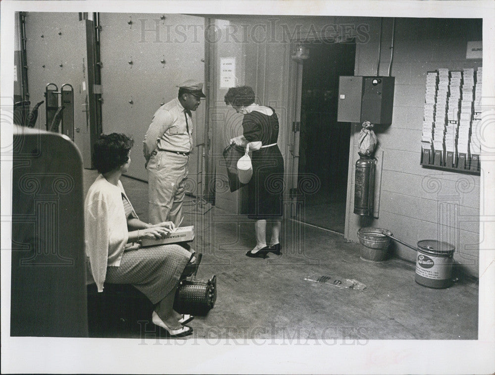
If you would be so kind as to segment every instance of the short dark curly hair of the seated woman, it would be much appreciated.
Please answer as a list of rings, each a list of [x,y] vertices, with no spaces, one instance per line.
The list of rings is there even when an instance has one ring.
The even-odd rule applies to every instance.
[[[98,172],[110,172],[125,164],[133,145],[134,140],[125,134],[101,134],[93,151],[93,163]]]

